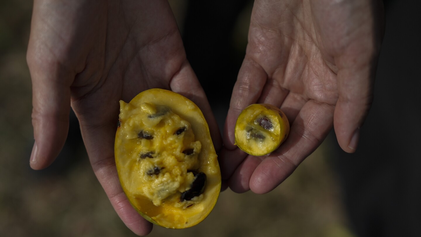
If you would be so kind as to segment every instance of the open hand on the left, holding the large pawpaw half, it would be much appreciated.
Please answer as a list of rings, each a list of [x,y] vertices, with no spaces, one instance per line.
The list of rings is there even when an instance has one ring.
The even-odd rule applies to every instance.
[[[31,167],[47,167],[61,151],[71,106],[96,177],[136,234],[148,234],[152,224],[131,207],[117,177],[119,100],[128,102],[150,88],[178,92],[201,108],[215,148],[221,147],[216,121],[165,0],[35,0],[27,62],[35,137]]]

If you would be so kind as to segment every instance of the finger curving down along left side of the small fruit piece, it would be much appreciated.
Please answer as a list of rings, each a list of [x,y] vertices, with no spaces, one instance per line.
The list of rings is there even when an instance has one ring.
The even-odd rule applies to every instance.
[[[266,72],[250,57],[242,62],[237,81],[232,90],[229,110],[224,127],[224,146],[229,149],[237,148],[234,138],[234,127],[241,111],[248,105],[256,103],[266,83]]]

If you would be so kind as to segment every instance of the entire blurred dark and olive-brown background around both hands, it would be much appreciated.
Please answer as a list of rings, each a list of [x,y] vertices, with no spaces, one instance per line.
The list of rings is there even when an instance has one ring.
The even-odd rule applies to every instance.
[[[223,127],[253,2],[169,2]],[[149,236],[420,236],[421,19],[414,1],[385,4],[376,99],[356,154],[342,152],[332,133],[269,194],[228,189],[197,226],[154,226]],[[41,171],[29,167],[34,139],[25,54],[31,11],[30,1],[0,2],[0,236],[134,236],[93,174],[74,115],[56,162]]]

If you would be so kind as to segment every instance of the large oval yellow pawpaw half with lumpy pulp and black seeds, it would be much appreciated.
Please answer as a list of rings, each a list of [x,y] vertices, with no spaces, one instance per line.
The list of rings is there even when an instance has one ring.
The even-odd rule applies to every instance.
[[[120,101],[115,162],[121,186],[148,221],[173,229],[208,216],[221,189],[221,172],[200,109],[164,89]]]

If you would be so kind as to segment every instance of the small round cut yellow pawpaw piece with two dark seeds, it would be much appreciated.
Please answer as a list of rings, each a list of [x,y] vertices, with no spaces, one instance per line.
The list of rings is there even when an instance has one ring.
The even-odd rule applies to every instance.
[[[253,104],[242,110],[235,124],[235,145],[253,156],[276,150],[288,137],[285,113],[269,104]]]

